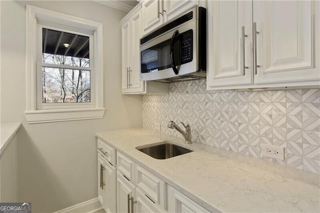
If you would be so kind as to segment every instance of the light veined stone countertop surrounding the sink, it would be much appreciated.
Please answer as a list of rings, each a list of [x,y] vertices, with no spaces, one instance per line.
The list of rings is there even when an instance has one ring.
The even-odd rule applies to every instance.
[[[320,212],[320,175],[143,128],[96,136],[211,212]],[[194,150],[155,159],[136,146],[171,140]]]

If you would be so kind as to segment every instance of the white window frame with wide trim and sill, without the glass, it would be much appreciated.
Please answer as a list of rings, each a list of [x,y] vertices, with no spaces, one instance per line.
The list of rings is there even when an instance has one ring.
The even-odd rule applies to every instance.
[[[83,68],[83,70],[90,70],[90,102],[42,103],[42,66],[48,65],[42,63],[42,35],[40,36],[41,30],[39,30],[42,27],[90,37],[90,54],[92,51],[90,65],[88,68]],[[102,23],[26,5],[26,110],[24,113],[28,123],[103,117],[102,32]]]

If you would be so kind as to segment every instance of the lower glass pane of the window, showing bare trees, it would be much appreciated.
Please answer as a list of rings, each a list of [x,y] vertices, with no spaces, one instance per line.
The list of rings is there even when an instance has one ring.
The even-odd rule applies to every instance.
[[[90,102],[90,71],[42,67],[42,102]]]

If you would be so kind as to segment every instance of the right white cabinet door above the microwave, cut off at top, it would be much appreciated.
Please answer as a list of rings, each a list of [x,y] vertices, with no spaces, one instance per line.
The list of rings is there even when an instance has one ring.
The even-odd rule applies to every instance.
[[[162,0],[164,21],[172,19],[195,4],[198,4],[198,0]]]

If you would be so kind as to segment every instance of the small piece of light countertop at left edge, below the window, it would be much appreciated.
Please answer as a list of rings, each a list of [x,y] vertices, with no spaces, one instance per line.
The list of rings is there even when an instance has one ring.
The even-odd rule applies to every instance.
[[[0,153],[20,128],[21,123],[0,123]]]

